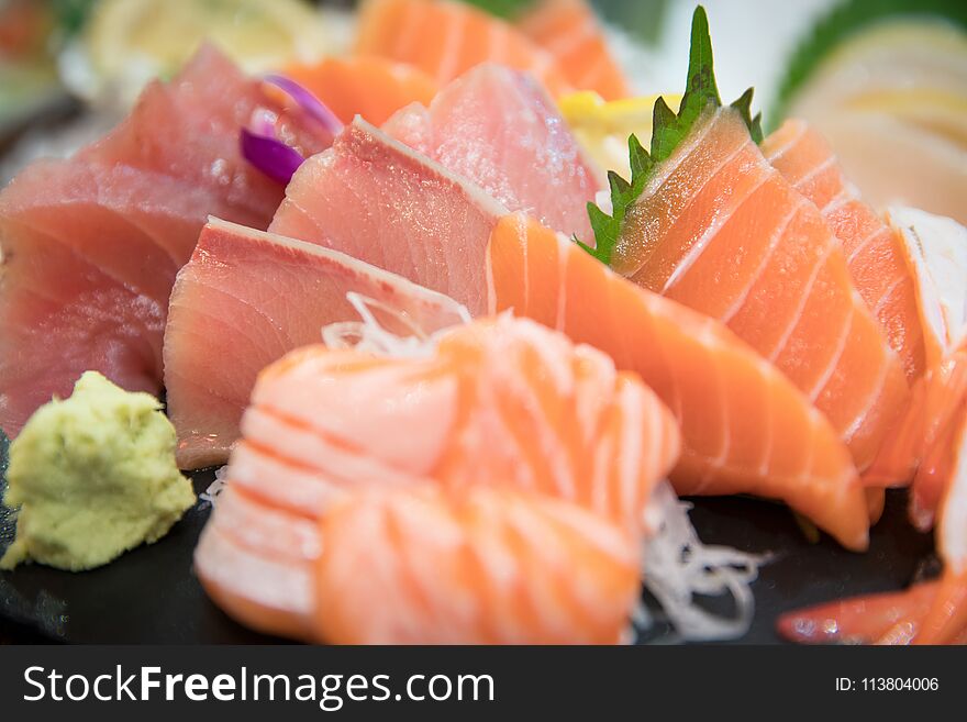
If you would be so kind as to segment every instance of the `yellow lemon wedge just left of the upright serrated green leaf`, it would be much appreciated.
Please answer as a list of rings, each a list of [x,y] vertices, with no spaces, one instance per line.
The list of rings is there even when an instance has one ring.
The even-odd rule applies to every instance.
[[[664,96],[673,110],[681,96]],[[558,100],[562,115],[585,153],[603,170],[627,178],[627,136],[634,133],[647,147],[652,140],[652,111],[658,96],[605,101],[593,91],[575,92]]]

